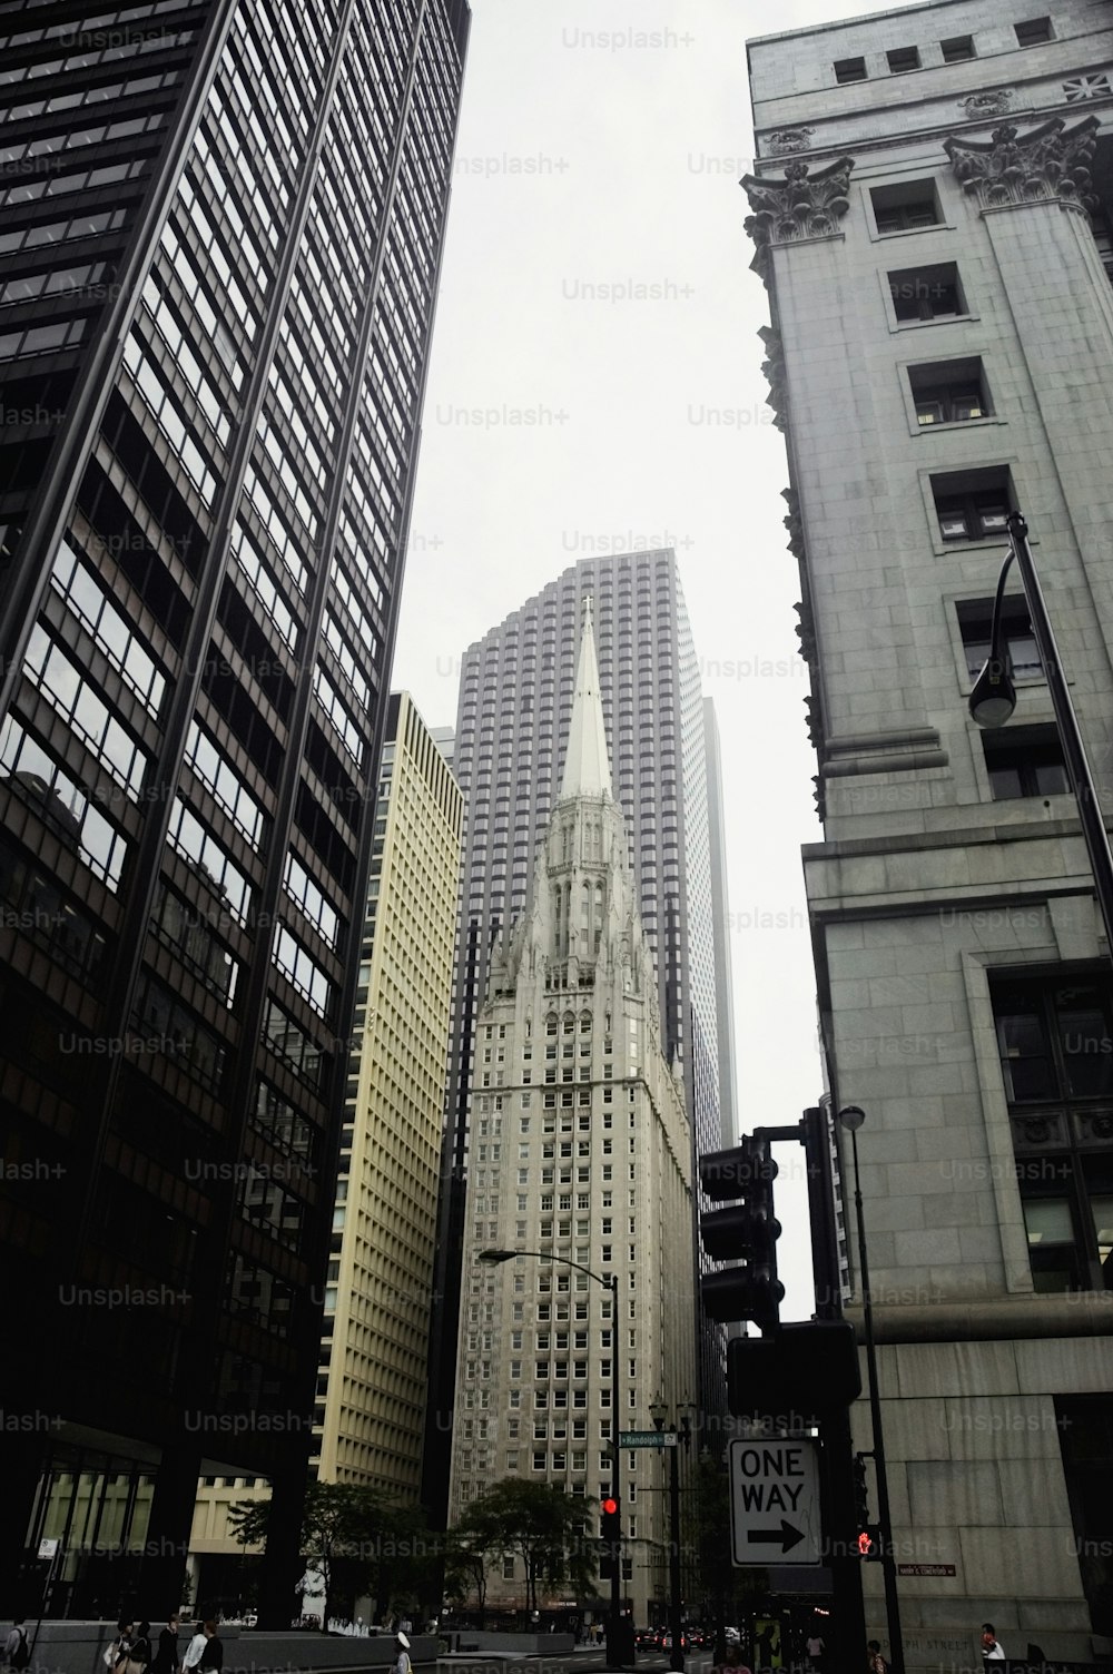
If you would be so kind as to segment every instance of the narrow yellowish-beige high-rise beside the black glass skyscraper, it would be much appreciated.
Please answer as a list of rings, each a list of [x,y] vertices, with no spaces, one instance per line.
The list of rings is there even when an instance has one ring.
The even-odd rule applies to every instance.
[[[392,693],[316,1383],[316,1475],[417,1503],[464,798]],[[318,1451],[320,1450],[320,1451]]]

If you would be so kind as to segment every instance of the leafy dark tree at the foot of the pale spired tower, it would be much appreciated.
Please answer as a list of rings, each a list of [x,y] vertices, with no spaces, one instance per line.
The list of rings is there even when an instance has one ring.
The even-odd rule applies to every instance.
[[[594,1592],[598,1547],[584,1540],[594,1500],[571,1498],[541,1481],[504,1476],[467,1508],[459,1533],[474,1552],[521,1557],[526,1565],[526,1612],[537,1609],[537,1582],[569,1580]]]

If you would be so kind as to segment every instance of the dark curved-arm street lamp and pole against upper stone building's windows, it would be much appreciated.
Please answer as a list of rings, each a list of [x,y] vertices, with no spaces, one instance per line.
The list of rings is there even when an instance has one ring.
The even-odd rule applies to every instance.
[[[1031,546],[1028,544],[1028,524],[1019,512],[1009,512],[1008,526],[1009,556],[1006,557],[1001,576],[998,578],[998,593],[992,601],[989,661],[974,681],[974,690],[971,691],[969,700],[971,715],[979,727],[1004,727],[1016,708],[1016,688],[1009,678],[1008,658],[1004,656],[1001,644],[1001,601],[1004,598],[1004,581],[1013,559],[1016,559],[1016,567],[1021,573],[1021,584],[1024,588],[1028,618],[1033,626],[1033,638],[1039,653],[1044,680],[1048,681],[1048,693],[1054,710],[1059,743],[1063,745],[1066,775],[1071,782],[1075,800],[1078,802],[1078,817],[1081,820],[1083,837],[1090,854],[1090,869],[1093,872],[1098,906],[1105,921],[1105,939],[1110,954],[1113,956],[1113,855],[1110,854],[1110,839],[1101,817],[1101,804],[1098,802],[1093,773],[1086,758],[1086,747],[1078,725],[1078,715],[1075,713],[1071,691],[1059,660],[1059,648],[1054,643],[1054,629],[1051,628],[1051,618],[1048,616],[1048,608],[1044,604],[1039,576],[1036,574],[1036,562],[1033,559]]]

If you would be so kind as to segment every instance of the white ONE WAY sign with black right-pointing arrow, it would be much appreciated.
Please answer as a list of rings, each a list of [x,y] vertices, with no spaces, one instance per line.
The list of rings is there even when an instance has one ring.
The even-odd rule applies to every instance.
[[[818,1443],[731,1441],[730,1523],[736,1565],[818,1564]]]

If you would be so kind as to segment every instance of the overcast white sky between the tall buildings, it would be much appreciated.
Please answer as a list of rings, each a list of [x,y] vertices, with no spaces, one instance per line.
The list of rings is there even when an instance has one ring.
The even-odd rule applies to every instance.
[[[822,1091],[800,870],[822,834],[741,224],[745,42],[882,10],[472,0],[392,683],[450,725],[460,653],[507,611],[577,557],[676,547],[723,737],[743,1132]],[[812,1306],[803,1202],[802,1178],[778,1187],[790,1317]]]

